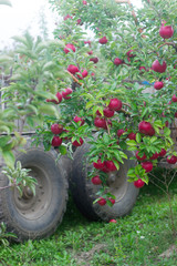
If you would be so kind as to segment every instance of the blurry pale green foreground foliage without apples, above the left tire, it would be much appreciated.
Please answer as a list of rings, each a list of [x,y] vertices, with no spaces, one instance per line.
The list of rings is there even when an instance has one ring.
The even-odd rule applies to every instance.
[[[60,116],[59,109],[46,104],[45,100],[55,98],[56,79],[64,72],[52,60],[52,51],[62,47],[61,41],[42,41],[41,38],[34,41],[28,32],[23,37],[14,37],[14,40],[17,49],[8,57],[13,71],[9,85],[2,83],[1,104],[4,110],[0,112],[0,132],[4,134],[0,137],[0,152],[11,167],[14,165],[12,151],[24,144],[21,133],[30,126],[33,130],[35,123],[40,124],[43,114]],[[8,61],[7,57],[0,57],[1,69],[3,65],[7,69]],[[17,129],[18,120],[20,129]]]

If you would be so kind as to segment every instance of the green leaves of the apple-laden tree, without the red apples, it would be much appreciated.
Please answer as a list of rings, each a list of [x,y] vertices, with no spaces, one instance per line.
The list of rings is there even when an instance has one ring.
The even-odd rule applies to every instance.
[[[52,123],[62,124],[65,129],[60,135],[63,142],[64,137],[72,137],[73,142],[75,139],[85,139],[86,134],[86,140],[92,144],[87,154],[90,162],[112,160],[117,170],[125,158],[123,150],[138,150],[139,156],[145,154],[146,161],[150,161],[154,167],[162,158],[152,160],[152,156],[159,154],[162,149],[169,156],[177,155],[168,127],[177,111],[176,103],[171,101],[176,94],[176,30],[170,41],[159,35],[163,21],[175,28],[176,3],[142,1],[143,7],[136,9],[128,1],[128,4],[105,0],[88,0],[85,4],[81,0],[50,2],[63,18],[55,29],[55,39],[62,39],[65,44],[72,43],[76,49],[67,53],[58,51],[55,60],[63,61],[65,69],[74,64],[80,72],[71,75],[70,81],[61,80],[60,92],[63,86],[72,86],[73,93],[70,100],[60,103],[61,119],[51,120],[49,131]],[[92,30],[92,38],[85,37],[85,29]],[[103,37],[107,42],[100,44]],[[91,50],[93,53],[88,54]],[[93,57],[98,58],[97,63],[90,60]],[[119,65],[114,64],[115,58],[122,60]],[[167,70],[163,73],[152,69],[157,59],[160,64],[163,61],[167,63]],[[83,70],[88,72],[86,78],[82,76]],[[164,82],[162,90],[153,89],[156,81]],[[107,119],[103,110],[114,98],[122,101],[123,108]],[[95,127],[97,111],[105,119],[106,129]],[[85,124],[77,123],[76,126],[72,122],[75,115],[82,117]],[[150,123],[155,133],[142,133],[138,129],[142,121]],[[118,130],[124,130],[121,136],[117,136]],[[92,132],[95,131],[97,137],[93,139]],[[135,140],[128,140],[132,132],[136,133]],[[132,156],[132,160],[136,157]],[[91,176],[98,173],[102,175],[101,171],[93,168]],[[148,184],[142,162],[128,171],[128,176],[129,182],[142,178]]]

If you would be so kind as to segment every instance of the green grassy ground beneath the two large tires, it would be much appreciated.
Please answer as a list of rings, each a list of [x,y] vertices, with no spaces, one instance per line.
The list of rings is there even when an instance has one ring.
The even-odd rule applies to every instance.
[[[177,181],[170,195],[177,224]],[[90,222],[72,200],[62,225],[42,241],[0,247],[0,265],[23,266],[175,266],[177,252],[159,255],[177,238],[171,236],[167,197],[154,185],[142,188],[129,216],[116,224]]]

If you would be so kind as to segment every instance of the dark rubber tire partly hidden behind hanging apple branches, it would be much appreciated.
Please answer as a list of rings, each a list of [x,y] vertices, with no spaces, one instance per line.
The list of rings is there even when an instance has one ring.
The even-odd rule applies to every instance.
[[[116,218],[129,214],[136,197],[138,188],[133,183],[127,182],[127,171],[135,165],[132,160],[124,161],[121,164],[119,171],[112,172],[108,177],[110,192],[116,196],[116,203],[110,207],[107,204],[100,206],[97,203],[93,204],[96,200],[96,192],[100,186],[93,185],[87,177],[88,171],[92,165],[86,162],[85,153],[88,152],[90,145],[84,144],[74,153],[73,171],[71,176],[71,187],[74,202],[81,213],[90,219],[102,219],[108,222],[111,218]],[[132,152],[125,152],[128,157]]]

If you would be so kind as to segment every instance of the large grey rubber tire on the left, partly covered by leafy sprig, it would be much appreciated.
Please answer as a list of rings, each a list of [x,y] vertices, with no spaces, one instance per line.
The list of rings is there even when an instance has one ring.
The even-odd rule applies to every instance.
[[[31,147],[30,143],[27,142],[25,153],[17,154],[17,161],[31,168],[30,175],[37,178],[35,195],[29,188],[22,197],[17,188],[0,192],[0,221],[19,242],[53,234],[62,222],[67,201],[67,176],[62,160],[56,163],[54,150],[44,152],[42,146]],[[0,187],[6,185],[8,178],[0,174]]]

